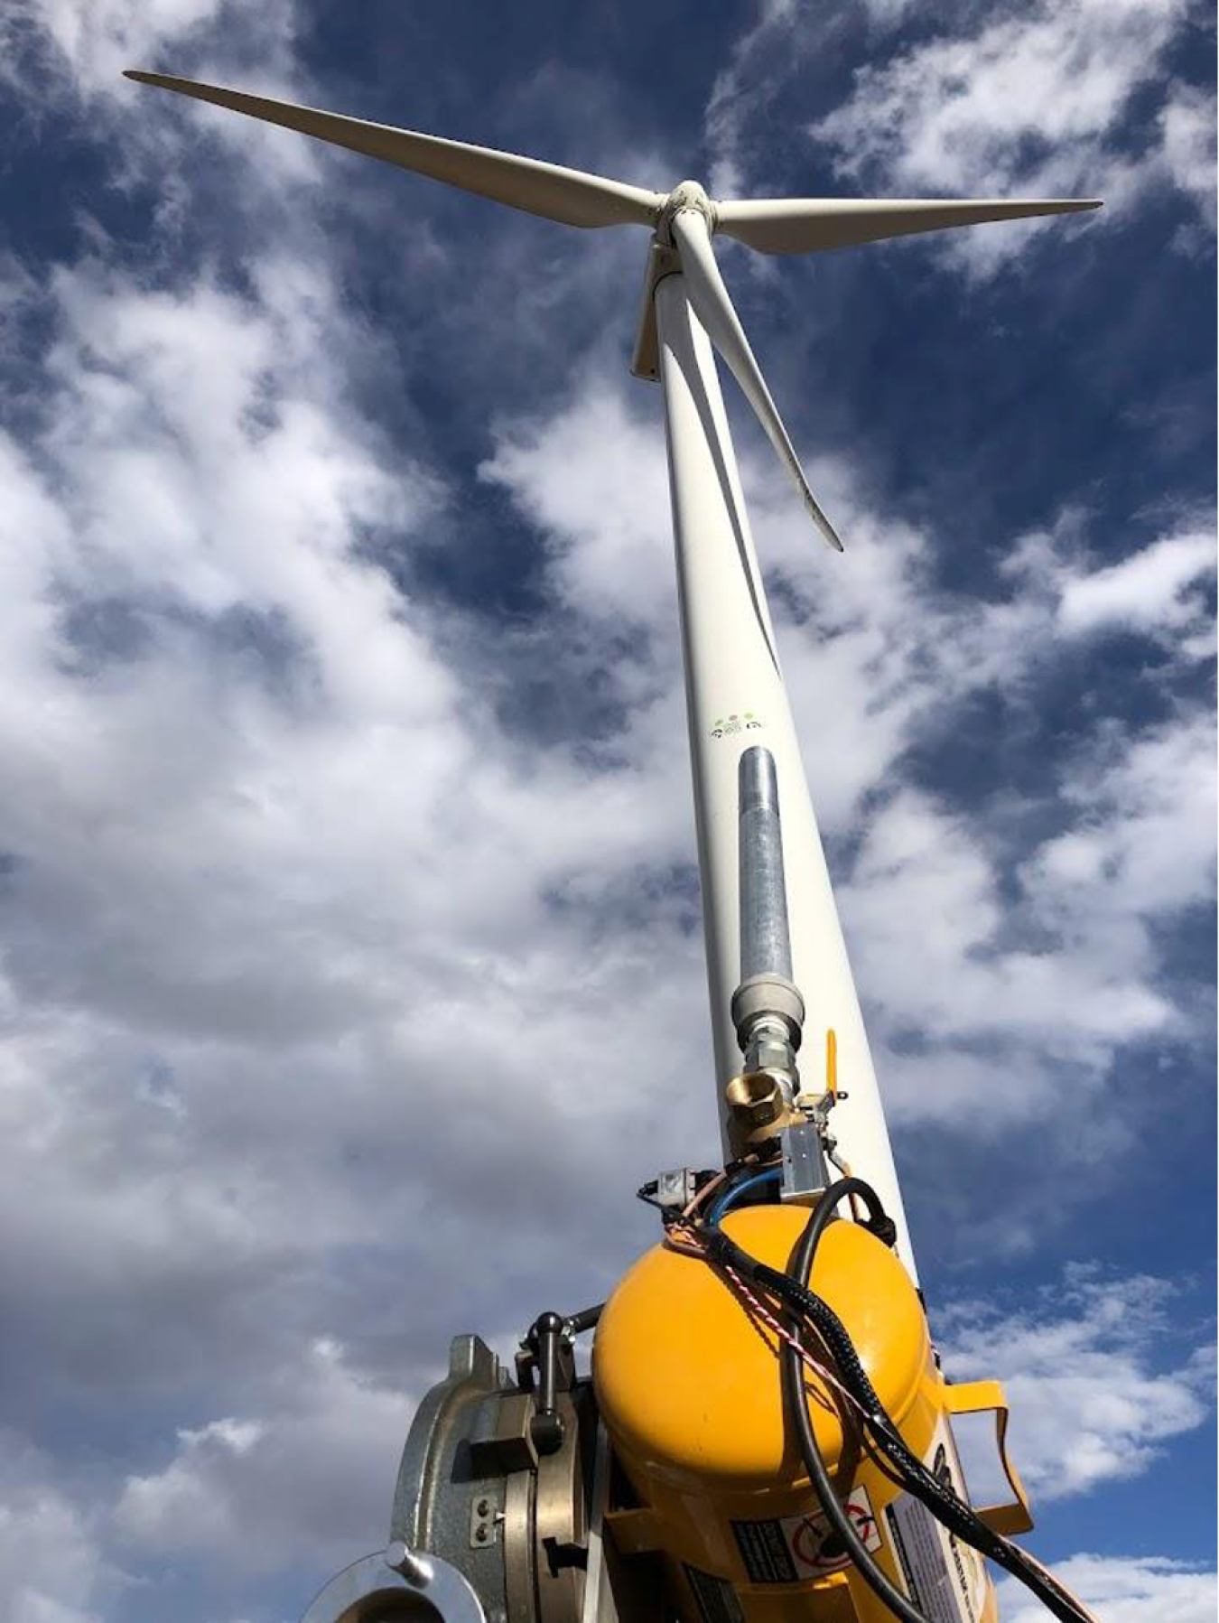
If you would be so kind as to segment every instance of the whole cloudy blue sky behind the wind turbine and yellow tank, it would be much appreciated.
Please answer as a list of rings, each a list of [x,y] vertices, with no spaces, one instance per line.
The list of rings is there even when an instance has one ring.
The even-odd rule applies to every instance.
[[[714,1157],[643,240],[146,67],[719,195],[1086,193],[726,278],[932,1321],[1034,1548],[1214,1617],[1216,57],[1190,0],[8,0],[0,1617],[291,1623]],[[1031,1623],[1018,1595],[1010,1623]]]

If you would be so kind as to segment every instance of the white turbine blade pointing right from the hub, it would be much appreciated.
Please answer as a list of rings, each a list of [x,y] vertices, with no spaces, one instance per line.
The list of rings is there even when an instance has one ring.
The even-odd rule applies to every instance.
[[[857,242],[911,237],[950,226],[984,226],[1039,214],[1078,214],[1099,198],[755,198],[716,203],[716,230],[760,253],[815,253]]]

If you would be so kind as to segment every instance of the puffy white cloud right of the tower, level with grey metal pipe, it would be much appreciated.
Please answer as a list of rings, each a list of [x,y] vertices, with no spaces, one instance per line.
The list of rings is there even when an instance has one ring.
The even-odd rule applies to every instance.
[[[901,1048],[911,1029],[953,1032],[946,1050],[898,1052],[881,1071],[922,1112],[951,1113],[1006,1070],[1021,1087],[989,1091],[993,1128],[1034,1109],[1052,1060],[1099,1078],[1128,1042],[1203,1034],[1204,1013],[1159,984],[1154,932],[1214,896],[1211,717],[1113,729],[1060,795],[1066,826],[1018,863],[1006,894],[1001,844],[925,794],[889,795],[865,829],[841,906],[877,1035]],[[894,917],[922,920],[917,967]],[[971,1053],[979,1040],[1000,1053]]]

